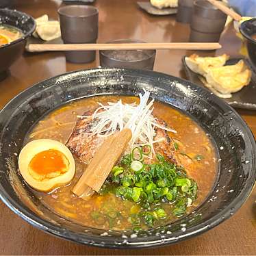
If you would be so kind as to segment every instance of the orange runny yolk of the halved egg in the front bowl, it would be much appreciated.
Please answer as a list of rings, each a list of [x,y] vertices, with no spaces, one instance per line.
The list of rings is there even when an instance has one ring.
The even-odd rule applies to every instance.
[[[62,152],[48,149],[34,155],[29,162],[29,170],[35,179],[51,179],[66,172],[68,165],[68,159]]]

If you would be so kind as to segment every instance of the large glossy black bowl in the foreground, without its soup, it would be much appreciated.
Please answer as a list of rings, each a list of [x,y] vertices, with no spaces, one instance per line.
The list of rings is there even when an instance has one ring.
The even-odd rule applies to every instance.
[[[18,172],[18,153],[29,129],[56,107],[99,94],[151,97],[191,116],[218,151],[218,175],[207,199],[171,225],[148,231],[104,231],[68,221],[44,207]],[[99,68],[42,81],[0,112],[0,196],[13,212],[38,229],[66,240],[108,248],[145,248],[199,235],[231,217],[251,193],[256,177],[255,139],[227,103],[189,81],[153,71]],[[207,170],[205,170],[207,177]]]

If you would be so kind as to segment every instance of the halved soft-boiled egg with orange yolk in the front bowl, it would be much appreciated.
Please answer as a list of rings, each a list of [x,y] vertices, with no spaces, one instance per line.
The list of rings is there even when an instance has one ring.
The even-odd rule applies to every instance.
[[[47,192],[69,183],[75,175],[75,160],[61,142],[42,139],[27,143],[18,156],[21,175],[32,188]]]

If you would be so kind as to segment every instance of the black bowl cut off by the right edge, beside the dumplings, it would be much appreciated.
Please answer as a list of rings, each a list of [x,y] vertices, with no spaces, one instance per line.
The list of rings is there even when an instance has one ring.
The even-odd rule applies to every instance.
[[[256,18],[244,21],[240,25],[240,32],[246,39],[248,55],[256,71]],[[253,39],[252,36],[255,36]]]

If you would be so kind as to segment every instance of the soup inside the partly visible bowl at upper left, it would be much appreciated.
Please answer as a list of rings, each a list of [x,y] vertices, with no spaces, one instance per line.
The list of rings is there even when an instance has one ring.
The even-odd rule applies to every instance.
[[[0,24],[0,46],[8,44],[22,36],[23,33],[19,29],[16,29],[16,27]]]

